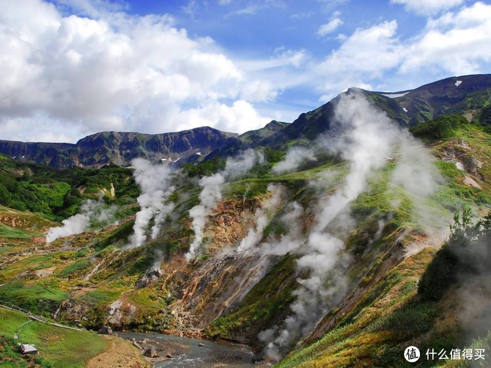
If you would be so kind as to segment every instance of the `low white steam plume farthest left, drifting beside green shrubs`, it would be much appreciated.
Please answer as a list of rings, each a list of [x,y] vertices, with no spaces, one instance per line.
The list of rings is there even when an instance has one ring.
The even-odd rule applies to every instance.
[[[97,222],[99,226],[117,223],[114,214],[116,206],[107,207],[102,198],[97,201],[87,199],[82,202],[78,214],[63,220],[62,226],[51,227],[46,236],[46,242],[51,243],[58,238],[69,235],[81,234],[87,231],[91,224]]]

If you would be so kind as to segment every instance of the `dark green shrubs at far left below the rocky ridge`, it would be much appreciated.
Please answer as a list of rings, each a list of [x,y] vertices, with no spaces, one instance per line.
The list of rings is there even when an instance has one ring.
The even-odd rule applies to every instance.
[[[111,196],[111,183],[115,196]],[[139,195],[131,170],[115,165],[101,169],[55,170],[18,163],[0,155],[0,204],[60,220],[77,213],[83,199],[104,196],[107,203],[125,204]]]

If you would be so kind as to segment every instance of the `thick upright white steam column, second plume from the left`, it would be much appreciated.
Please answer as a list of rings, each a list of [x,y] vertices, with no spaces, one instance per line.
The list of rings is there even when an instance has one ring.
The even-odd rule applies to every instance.
[[[135,167],[133,176],[140,186],[141,194],[137,199],[140,211],[133,225],[133,234],[128,239],[129,248],[140,246],[145,242],[147,227],[152,219],[151,238],[157,238],[162,223],[174,209],[174,204],[167,202],[167,198],[175,190],[175,187],[170,185],[169,179],[172,173],[170,167],[152,165],[144,158],[135,158],[131,164]]]

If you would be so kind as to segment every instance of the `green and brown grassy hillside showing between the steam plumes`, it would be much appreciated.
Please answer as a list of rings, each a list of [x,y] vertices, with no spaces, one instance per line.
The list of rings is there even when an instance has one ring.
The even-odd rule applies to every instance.
[[[458,116],[422,123],[413,132],[436,158],[439,180],[434,192],[428,196],[409,192],[403,183],[393,180],[397,152],[370,174],[366,188],[351,203],[352,228],[343,236],[352,258],[346,297],[326,312],[310,336],[292,346],[294,352],[279,367],[404,366],[401,350],[408,343],[436,350],[487,341],[485,334],[471,334],[472,338],[462,340],[466,332],[455,323],[457,312],[464,308],[464,283],[453,282],[436,299],[425,297],[426,291],[418,290],[418,283],[428,278],[423,275],[437,267],[434,262],[438,261],[433,260],[441,257],[437,250],[441,220],[450,223],[453,214],[463,208],[469,208],[473,217],[482,217],[491,206],[491,135],[480,123],[471,124]],[[308,228],[319,199],[334,193],[348,172],[339,157],[325,153],[294,172],[276,175],[272,167],[285,152],[265,148],[263,153],[264,163],[224,187],[224,198],[205,228],[206,252],[190,263],[183,255],[193,238],[189,210],[199,203],[197,179],[224,168],[225,159],[184,165],[184,174],[177,174],[177,189],[169,198],[175,209],[164,230],[156,239],[128,249],[125,245],[132,233],[139,194],[130,170],[56,171],[3,157],[1,174],[7,179],[0,187],[9,188],[4,191],[9,197],[0,206],[0,300],[47,317],[54,317],[59,308],[58,320],[86,329],[110,324],[137,331],[204,333],[248,342],[260,350],[258,332],[281,323],[295,300],[299,255],[292,252],[272,258],[267,272],[240,301],[227,305],[229,299],[224,301],[220,293],[228,288],[235,291],[232,281],[243,277],[239,270],[250,267],[247,263],[244,267],[240,257],[226,258],[224,250],[236,246],[247,234],[255,211],[268,196],[269,184],[281,185],[285,199],[265,227],[264,239],[288,232],[288,225],[280,221],[288,202],[302,205],[305,214],[299,222]],[[68,217],[82,199],[100,195],[107,204],[119,205],[117,225],[44,242],[42,236],[53,225],[51,220]],[[156,259],[162,262],[164,277],[138,288],[138,281]],[[477,279],[473,283],[479,284]],[[224,309],[213,314],[208,306]],[[11,345],[10,329],[20,322],[15,319],[20,317],[14,317],[7,315],[5,320],[10,321],[0,325],[6,346]],[[211,323],[203,323],[208,318]],[[36,328],[40,330],[25,330],[26,336],[42,346],[39,336],[48,332],[42,330],[44,326]],[[97,335],[83,336],[94,347],[77,352],[77,361],[66,355],[72,366],[107,348]],[[46,342],[45,359],[39,364],[63,366],[56,357],[50,358],[50,352],[58,348],[71,351],[72,338]]]

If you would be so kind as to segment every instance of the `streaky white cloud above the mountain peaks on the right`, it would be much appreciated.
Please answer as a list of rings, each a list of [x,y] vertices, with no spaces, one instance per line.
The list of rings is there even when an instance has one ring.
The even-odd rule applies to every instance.
[[[369,89],[389,73],[391,80],[407,81],[399,89],[424,76],[431,81],[434,75],[482,73],[482,65],[491,62],[490,39],[491,5],[482,2],[430,18],[409,39],[399,37],[395,20],[384,21],[341,39],[340,47],[313,67],[312,78],[325,77],[315,84],[324,102],[351,86]]]

